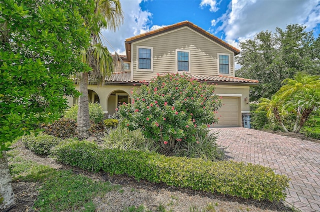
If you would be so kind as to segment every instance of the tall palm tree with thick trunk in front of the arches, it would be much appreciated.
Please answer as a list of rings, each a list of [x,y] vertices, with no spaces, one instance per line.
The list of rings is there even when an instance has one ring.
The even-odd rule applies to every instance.
[[[87,29],[90,32],[91,45],[84,49],[82,61],[89,67],[90,71],[78,74],[80,97],[78,101],[77,133],[81,137],[87,137],[90,127],[88,108],[88,78],[104,83],[105,77],[110,76],[117,61],[113,59],[110,52],[102,45],[100,30],[107,28],[115,31],[123,21],[123,12],[119,0],[95,0],[95,10],[86,20]]]

